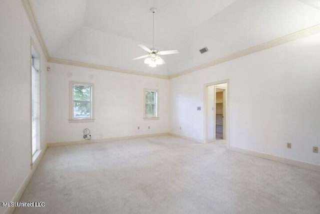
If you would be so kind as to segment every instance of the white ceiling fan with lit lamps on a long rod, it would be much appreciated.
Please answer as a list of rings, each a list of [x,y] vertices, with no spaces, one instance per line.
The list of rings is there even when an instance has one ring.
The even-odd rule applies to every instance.
[[[169,55],[169,54],[178,54],[179,51],[178,50],[158,51],[158,50],[154,49],[154,14],[156,13],[156,8],[151,8],[150,11],[153,14],[152,48],[149,49],[149,48],[145,47],[144,45],[138,45],[144,51],[148,52],[148,54],[134,58],[132,60],[138,60],[138,59],[145,58],[144,63],[148,64],[150,67],[154,68],[157,65],[162,65],[165,63],[164,60],[159,56]]]

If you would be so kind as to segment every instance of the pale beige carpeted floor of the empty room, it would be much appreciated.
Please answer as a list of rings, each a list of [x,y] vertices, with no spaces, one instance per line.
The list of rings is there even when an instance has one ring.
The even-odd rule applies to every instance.
[[[163,136],[48,148],[18,213],[320,213],[320,172]]]

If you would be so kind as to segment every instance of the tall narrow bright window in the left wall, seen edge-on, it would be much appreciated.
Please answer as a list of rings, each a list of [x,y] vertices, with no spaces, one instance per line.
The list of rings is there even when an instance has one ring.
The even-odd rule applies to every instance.
[[[31,151],[33,156],[40,144],[40,64],[37,52],[33,47],[31,50]]]

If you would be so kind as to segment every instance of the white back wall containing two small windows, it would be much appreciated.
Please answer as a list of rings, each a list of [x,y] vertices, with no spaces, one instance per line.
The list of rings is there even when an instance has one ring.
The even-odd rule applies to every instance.
[[[83,140],[82,130],[86,127],[92,139],[169,131],[168,80],[53,63],[49,66],[47,142]],[[94,84],[95,122],[68,122],[69,81]],[[159,90],[159,120],[143,120],[144,88]]]

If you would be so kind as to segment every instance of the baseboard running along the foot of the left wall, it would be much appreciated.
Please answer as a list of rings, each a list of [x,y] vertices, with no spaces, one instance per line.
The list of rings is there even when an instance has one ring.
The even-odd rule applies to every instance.
[[[25,179],[23,180],[22,184],[20,185],[19,189],[15,192],[13,198],[11,199],[11,201],[19,201],[26,186],[28,185],[36,167],[38,166],[39,162],[41,161],[43,155],[45,154],[45,151],[46,151],[46,148],[45,147],[44,149],[41,150],[40,154],[38,155],[38,157],[36,158],[36,160],[34,161],[34,163],[31,165],[31,169],[29,171],[29,173],[27,174],[27,176],[25,177]],[[11,214],[13,213],[14,211],[14,206],[10,206],[10,207],[7,207],[5,210],[4,210],[4,213],[3,214]]]

